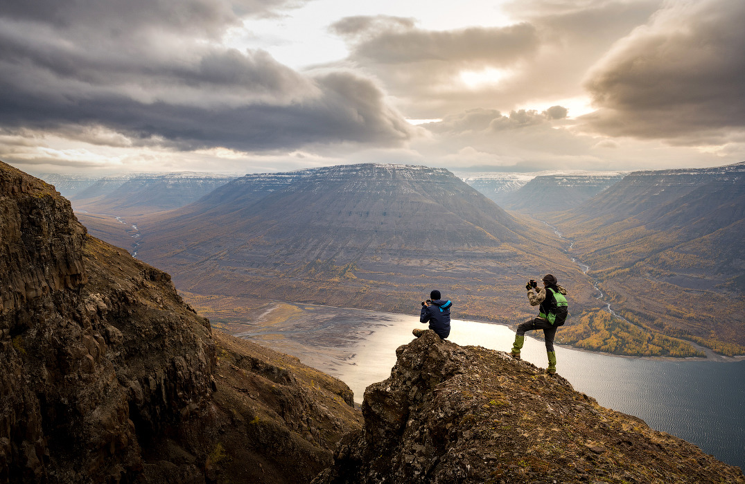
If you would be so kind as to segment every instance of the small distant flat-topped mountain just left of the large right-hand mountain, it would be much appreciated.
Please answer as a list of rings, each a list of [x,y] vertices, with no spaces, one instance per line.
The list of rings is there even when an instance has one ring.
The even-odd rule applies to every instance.
[[[625,175],[619,172],[584,172],[536,176],[505,197],[502,206],[530,214],[566,210],[595,197]]]

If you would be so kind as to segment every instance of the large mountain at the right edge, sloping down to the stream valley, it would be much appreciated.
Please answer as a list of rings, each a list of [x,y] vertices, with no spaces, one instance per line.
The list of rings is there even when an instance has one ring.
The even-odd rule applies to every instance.
[[[745,163],[631,173],[550,221],[627,319],[745,351]]]

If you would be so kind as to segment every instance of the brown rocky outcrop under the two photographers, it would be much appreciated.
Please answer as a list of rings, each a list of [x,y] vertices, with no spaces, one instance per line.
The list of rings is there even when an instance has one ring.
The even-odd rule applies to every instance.
[[[364,427],[314,484],[745,483],[739,468],[600,407],[559,376],[433,331],[367,388]]]

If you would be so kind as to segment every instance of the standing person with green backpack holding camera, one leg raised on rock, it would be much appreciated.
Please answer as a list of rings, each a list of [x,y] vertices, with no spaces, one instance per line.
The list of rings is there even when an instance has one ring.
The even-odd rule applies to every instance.
[[[543,330],[546,342],[546,353],[548,354],[547,373],[557,372],[557,353],[554,351],[554,337],[557,328],[564,324],[567,316],[566,290],[557,284],[557,278],[551,274],[543,276],[543,288],[536,294],[538,284],[533,279],[525,284],[527,299],[531,306],[540,306],[539,315],[526,321],[517,327],[515,343],[510,354],[516,360],[520,359],[520,349],[525,341],[525,331]]]

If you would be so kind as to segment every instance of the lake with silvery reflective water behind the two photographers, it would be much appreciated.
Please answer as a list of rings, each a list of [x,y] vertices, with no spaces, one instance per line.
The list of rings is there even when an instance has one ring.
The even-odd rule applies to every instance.
[[[247,337],[293,354],[345,382],[361,402],[364,389],[390,376],[396,348],[409,343],[418,316],[326,306],[294,306],[300,312],[271,325],[247,325]],[[249,328],[250,327],[250,328]],[[485,322],[451,322],[448,340],[462,346],[510,351],[515,333]],[[559,331],[561,329],[559,328]],[[527,334],[530,336],[530,333]],[[693,442],[723,462],[745,468],[745,360],[648,360],[556,346],[557,370],[603,407]],[[525,338],[524,360],[545,368],[545,346]]]

